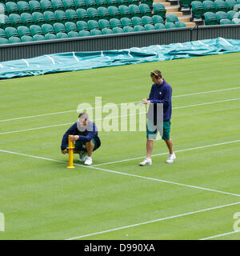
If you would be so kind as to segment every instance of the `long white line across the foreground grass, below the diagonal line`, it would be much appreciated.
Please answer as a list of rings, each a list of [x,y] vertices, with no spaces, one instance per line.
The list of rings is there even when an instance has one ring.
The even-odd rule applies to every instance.
[[[103,230],[103,231],[99,231],[99,232],[95,232],[95,233],[91,233],[91,234],[83,234],[83,235],[80,235],[78,237],[67,238],[65,240],[74,240],[74,239],[79,239],[79,238],[86,238],[86,237],[90,237],[90,236],[97,235],[97,234],[105,234],[105,233],[109,233],[109,232],[116,231],[116,230],[128,229],[128,228],[131,228],[131,227],[134,227],[134,226],[142,226],[142,225],[146,225],[146,224],[150,224],[150,223],[154,223],[154,222],[162,222],[162,221],[165,221],[165,220],[171,219],[171,218],[179,218],[179,217],[183,217],[183,216],[198,214],[198,213],[202,213],[202,212],[209,211],[209,210],[221,209],[223,207],[234,206],[234,205],[238,205],[238,204],[240,204],[240,202],[233,202],[233,203],[230,203],[230,204],[227,204],[227,205],[210,207],[210,208],[206,208],[206,209],[203,209],[203,210],[190,211],[190,212],[185,213],[185,214],[177,214],[177,215],[169,216],[169,217],[166,217],[166,218],[157,218],[157,219],[154,219],[154,220],[151,220],[151,221],[148,221],[148,222],[140,222],[140,223],[136,223],[136,224],[132,224],[132,225],[128,225],[128,226],[119,226],[119,227],[111,229],[111,230]]]

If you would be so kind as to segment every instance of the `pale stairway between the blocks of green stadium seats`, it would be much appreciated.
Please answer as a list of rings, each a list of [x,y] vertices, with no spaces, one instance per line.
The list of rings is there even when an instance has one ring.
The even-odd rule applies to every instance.
[[[178,16],[180,22],[185,22],[186,26],[196,26],[195,22],[191,22],[192,16],[190,14],[190,10],[179,10],[180,6],[178,5],[177,0],[154,0],[154,2],[161,2],[166,7],[166,16],[168,14],[175,14]]]

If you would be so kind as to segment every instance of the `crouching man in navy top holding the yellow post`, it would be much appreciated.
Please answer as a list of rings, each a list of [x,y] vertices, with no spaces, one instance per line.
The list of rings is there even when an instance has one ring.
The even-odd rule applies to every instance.
[[[87,113],[80,113],[78,115],[78,122],[70,126],[63,135],[61,145],[62,154],[68,153],[66,149],[68,147],[68,135],[73,135],[70,140],[74,142],[74,153],[79,154],[78,161],[84,162],[86,166],[90,166],[93,163],[92,153],[101,146],[101,141],[98,137],[97,126],[89,120]]]

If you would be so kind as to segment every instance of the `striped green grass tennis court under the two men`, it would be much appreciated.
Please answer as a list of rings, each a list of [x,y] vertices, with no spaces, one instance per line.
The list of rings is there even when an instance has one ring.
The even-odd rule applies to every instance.
[[[0,239],[217,239],[229,232],[218,239],[240,239],[233,233],[240,212],[239,57],[1,81]],[[145,132],[102,131],[96,166],[82,166],[75,155],[78,166],[66,169],[60,144],[78,104],[93,104],[95,96],[103,104],[141,101],[154,69],[173,88],[176,161],[166,164],[166,145],[157,141],[153,165],[138,166]]]

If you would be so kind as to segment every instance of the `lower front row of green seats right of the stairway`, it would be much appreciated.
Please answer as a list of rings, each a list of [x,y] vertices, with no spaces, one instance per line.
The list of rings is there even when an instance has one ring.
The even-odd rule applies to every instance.
[[[216,14],[206,12],[204,20],[206,25],[240,24],[240,14],[234,10],[229,10],[227,13],[220,10]]]

